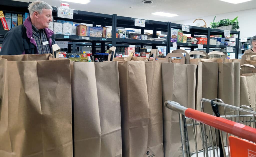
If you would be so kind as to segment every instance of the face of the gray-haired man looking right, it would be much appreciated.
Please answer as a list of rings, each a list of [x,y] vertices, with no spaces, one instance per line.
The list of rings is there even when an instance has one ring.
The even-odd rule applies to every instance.
[[[42,13],[38,14],[37,22],[40,24],[41,29],[48,28],[49,23],[52,21],[52,10],[42,9]]]

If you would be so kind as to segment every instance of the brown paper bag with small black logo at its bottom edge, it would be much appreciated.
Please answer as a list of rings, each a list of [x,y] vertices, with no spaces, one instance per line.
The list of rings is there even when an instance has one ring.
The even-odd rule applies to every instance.
[[[163,157],[160,62],[118,62],[125,157]]]

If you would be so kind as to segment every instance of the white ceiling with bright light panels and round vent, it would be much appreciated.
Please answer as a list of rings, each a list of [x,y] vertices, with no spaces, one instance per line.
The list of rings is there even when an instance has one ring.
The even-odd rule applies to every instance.
[[[35,0],[16,0],[31,2]],[[51,6],[60,6],[60,0],[43,0]],[[82,0],[81,0],[82,1]],[[88,4],[78,4],[65,2],[70,8],[76,10],[90,11],[103,14],[117,14],[118,16],[134,17],[156,21],[181,21],[196,19],[205,16],[230,13],[234,11],[256,8],[256,0],[230,4],[218,0],[151,0],[150,5],[145,5],[143,0],[91,0]],[[131,9],[129,7],[132,7]],[[178,14],[176,17],[164,17],[151,15],[151,13],[161,11],[166,13]],[[237,16],[237,15],[234,15]],[[248,15],[249,16],[249,15]],[[251,15],[253,16],[253,15]]]

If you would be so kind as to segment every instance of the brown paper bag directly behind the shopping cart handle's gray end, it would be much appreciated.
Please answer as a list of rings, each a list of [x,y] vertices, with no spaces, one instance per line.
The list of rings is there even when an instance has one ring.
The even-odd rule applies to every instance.
[[[164,100],[196,108],[196,65],[162,62],[162,90]],[[178,113],[163,106],[165,157],[182,156]],[[195,148],[192,126],[188,126],[190,148]]]

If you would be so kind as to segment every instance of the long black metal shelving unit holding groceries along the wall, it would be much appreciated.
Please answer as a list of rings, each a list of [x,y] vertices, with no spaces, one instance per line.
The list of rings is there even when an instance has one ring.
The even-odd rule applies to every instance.
[[[4,13],[6,11],[11,13],[25,13],[28,12],[27,6],[29,3],[26,2],[17,2],[11,0],[5,0],[0,4],[0,9],[4,8]],[[116,14],[108,15],[108,14],[99,14],[99,13],[92,13],[88,11],[80,11],[74,10],[73,19],[64,19],[57,17],[57,8],[53,7],[53,18],[54,20],[69,20],[73,22],[79,23],[88,23],[92,24],[92,26],[100,25],[103,27],[112,26],[112,38],[100,38],[100,37],[82,37],[77,35],[62,35],[62,34],[55,34],[56,41],[68,41],[69,46],[73,46],[72,52],[76,51],[76,47],[81,47],[84,45],[92,46],[92,53],[96,52],[96,46],[101,47],[101,52],[105,51],[105,46],[109,48],[109,46],[129,46],[129,45],[136,45],[136,47],[144,47],[145,45],[151,45],[153,49],[156,46],[166,46],[166,54],[170,52],[170,47],[172,46],[172,42],[170,42],[170,34],[171,29],[182,29],[182,25],[172,22],[161,22],[161,21],[154,21],[154,20],[146,20],[145,27],[137,27],[134,25],[135,19],[130,17],[123,17],[117,16]],[[140,29],[141,34],[144,34],[144,30],[153,30],[153,38],[157,37],[157,31],[164,31],[167,32],[167,40],[166,41],[151,41],[151,40],[135,40],[135,39],[121,39],[116,38],[116,28],[123,27],[123,28],[135,28]],[[7,33],[7,31],[0,30],[0,43],[3,42],[3,37]],[[209,39],[210,35],[222,35],[224,36],[224,30],[218,29],[211,29],[211,28],[204,28],[204,27],[195,27],[189,26],[189,32],[184,32],[186,34],[191,34],[192,37],[195,35],[207,35],[207,45],[203,45],[204,50],[209,53],[211,50],[217,49],[225,49],[226,46],[221,45],[210,45]],[[238,58],[239,52],[239,31],[230,31],[230,34],[238,34],[238,38],[236,38],[236,46],[232,46],[234,50],[236,50],[236,58]],[[72,43],[72,44],[71,44]],[[82,44],[81,44],[82,43]],[[84,44],[83,44],[84,43]],[[89,44],[91,43],[91,44]],[[96,45],[97,44],[97,45]],[[177,48],[180,47],[187,47],[190,48],[191,51],[194,48],[198,47],[198,44],[190,44],[190,43],[177,43]],[[69,49],[70,50],[70,49]],[[114,56],[112,56],[114,57]]]

